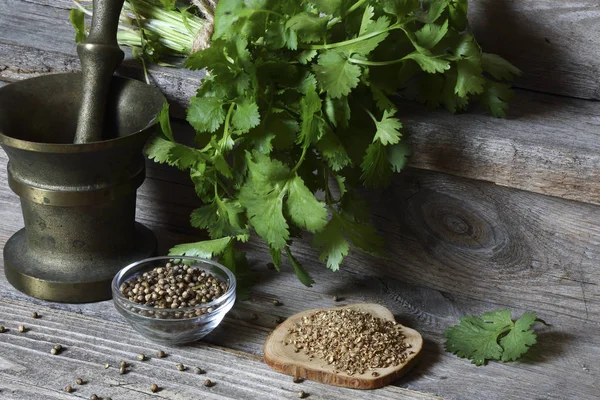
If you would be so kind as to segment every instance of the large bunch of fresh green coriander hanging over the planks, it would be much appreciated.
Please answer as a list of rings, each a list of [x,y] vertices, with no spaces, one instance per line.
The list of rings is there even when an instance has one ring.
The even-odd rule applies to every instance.
[[[165,108],[147,148],[205,204],[191,223],[210,240],[172,254],[236,271],[236,243],[255,232],[306,285],[290,248],[304,231],[334,271],[352,248],[380,254],[356,189],[387,185],[411,155],[392,97],[504,116],[512,96],[504,81],[520,71],[481,50],[466,15],[467,0],[220,0],[211,46],[185,61],[208,71],[187,110],[195,145],[174,140]]]

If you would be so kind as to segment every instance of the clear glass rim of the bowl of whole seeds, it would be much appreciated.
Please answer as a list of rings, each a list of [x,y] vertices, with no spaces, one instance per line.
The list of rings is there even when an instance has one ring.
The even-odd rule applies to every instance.
[[[122,277],[123,275],[125,275],[127,272],[129,272],[131,269],[139,266],[140,264],[143,263],[147,263],[147,262],[151,262],[151,261],[159,261],[159,260],[193,260],[196,261],[198,263],[201,264],[210,264],[214,267],[217,267],[218,269],[220,269],[221,271],[223,271],[226,275],[227,278],[229,279],[229,287],[227,288],[227,291],[225,293],[223,293],[221,296],[217,297],[215,300],[210,301],[208,303],[202,303],[196,306],[189,306],[189,307],[181,307],[181,308],[158,308],[158,307],[151,307],[151,306],[146,306],[144,304],[139,304],[136,303],[134,301],[129,300],[128,298],[126,298],[125,296],[123,296],[123,294],[121,294],[121,290],[119,289],[119,285],[117,284],[118,280],[120,277]],[[120,301],[122,301],[125,304],[134,306],[138,309],[141,310],[146,310],[146,311],[161,311],[161,312],[168,312],[168,313],[176,313],[176,312],[184,312],[184,311],[190,311],[190,310],[197,310],[199,308],[209,308],[215,305],[225,305],[227,304],[231,298],[235,299],[235,290],[236,290],[236,286],[237,286],[237,281],[235,278],[235,275],[233,274],[233,272],[231,272],[231,270],[227,267],[225,267],[224,265],[213,261],[213,260],[209,260],[206,258],[201,258],[201,257],[189,257],[189,256],[181,256],[181,255],[177,255],[177,256],[157,256],[157,257],[150,257],[150,258],[144,258],[143,260],[139,260],[136,262],[133,262],[123,268],[121,268],[114,276],[112,283],[111,283],[111,289],[112,289],[112,293],[113,293],[113,301],[115,300],[115,293],[116,296],[118,297],[118,299]],[[225,301],[223,301],[225,300]],[[212,312],[207,312],[206,314],[203,315],[199,315],[199,316],[195,316],[195,317],[191,317],[191,318],[204,318],[207,316],[210,316],[211,314],[217,313],[219,311],[221,307],[216,307]],[[160,317],[152,317],[152,319],[157,320],[157,319],[166,319],[166,318],[160,318]],[[189,318],[181,318],[181,319],[189,319]],[[178,320],[181,320],[178,319]],[[169,321],[172,321],[171,319],[169,319]]]

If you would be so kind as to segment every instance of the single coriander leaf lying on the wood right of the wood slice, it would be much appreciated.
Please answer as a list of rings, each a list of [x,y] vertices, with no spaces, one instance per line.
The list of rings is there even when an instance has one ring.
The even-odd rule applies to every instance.
[[[544,323],[533,312],[513,321],[510,309],[462,317],[458,325],[444,332],[446,351],[475,365],[484,365],[487,360],[514,361],[536,344],[537,336],[531,329],[536,321]]]

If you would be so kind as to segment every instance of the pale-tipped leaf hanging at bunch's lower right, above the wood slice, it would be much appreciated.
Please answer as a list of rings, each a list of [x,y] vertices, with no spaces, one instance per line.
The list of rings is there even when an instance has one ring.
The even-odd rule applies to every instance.
[[[334,212],[325,228],[313,236],[312,247],[319,249],[319,261],[326,261],[327,268],[332,271],[340,269],[342,260],[350,251],[343,229],[341,217]]]

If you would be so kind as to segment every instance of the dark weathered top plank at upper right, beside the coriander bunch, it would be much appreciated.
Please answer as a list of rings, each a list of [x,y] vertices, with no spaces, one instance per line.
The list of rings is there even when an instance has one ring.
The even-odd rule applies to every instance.
[[[471,0],[469,21],[486,52],[524,72],[522,88],[600,99],[597,0]]]

